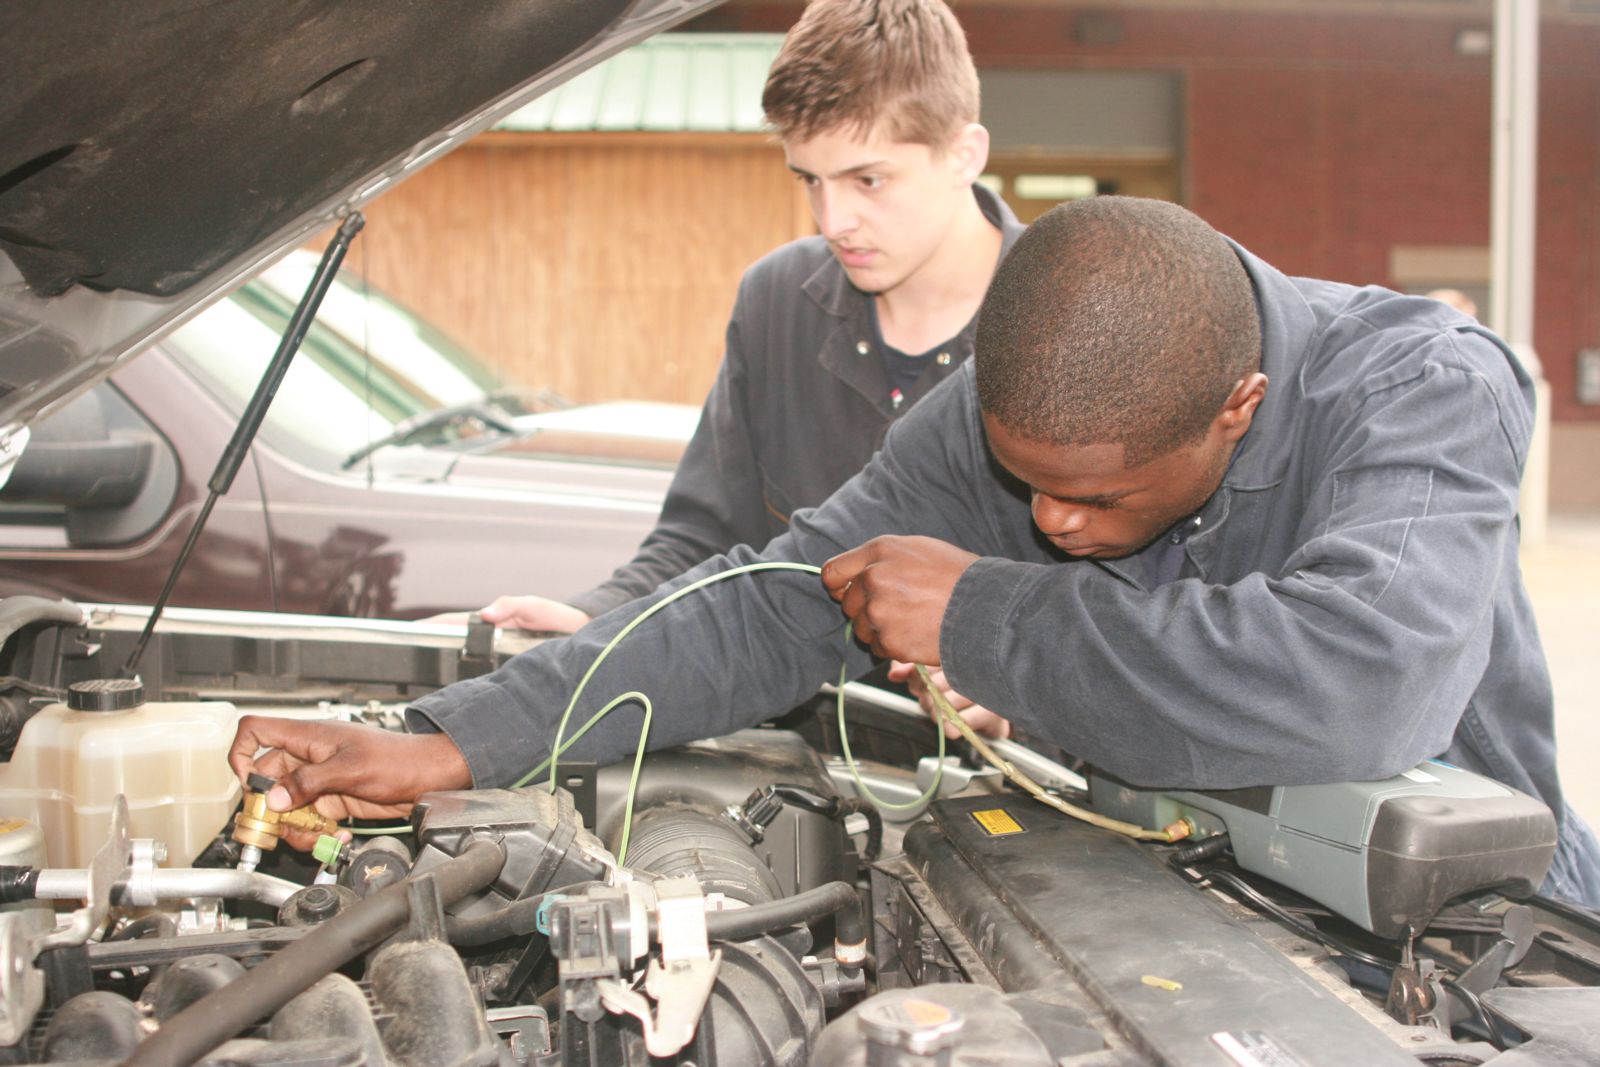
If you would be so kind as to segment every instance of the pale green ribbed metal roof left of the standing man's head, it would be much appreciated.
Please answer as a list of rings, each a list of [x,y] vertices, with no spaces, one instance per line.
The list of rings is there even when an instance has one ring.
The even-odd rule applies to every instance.
[[[507,117],[517,131],[760,133],[781,34],[661,34]]]

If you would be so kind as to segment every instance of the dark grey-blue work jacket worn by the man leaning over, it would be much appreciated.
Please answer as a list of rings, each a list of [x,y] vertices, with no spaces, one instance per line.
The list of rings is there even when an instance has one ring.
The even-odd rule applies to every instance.
[[[1526,373],[1438,302],[1240,258],[1269,387],[1176,581],[1152,581],[1149,552],[1101,563],[1045,542],[1027,490],[989,454],[963,368],[765,550],[734,549],[670,587],[752,560],[821,565],[878,534],[939,537],[982,557],[946,609],[944,670],[1030,734],[1163,787],[1379,779],[1443,755],[1549,803],[1558,870],[1594,878],[1594,838],[1562,801],[1517,565]],[[546,755],[578,678],[642,608],[414,710],[480,785],[504,784]],[[718,582],[629,635],[573,728],[627,689],[654,702],[651,747],[758,723],[837,678],[842,654],[851,675],[867,669],[842,621],[808,574]],[[574,755],[621,758],[637,731],[637,710],[613,713]],[[1590,893],[1566,896],[1600,902]]]

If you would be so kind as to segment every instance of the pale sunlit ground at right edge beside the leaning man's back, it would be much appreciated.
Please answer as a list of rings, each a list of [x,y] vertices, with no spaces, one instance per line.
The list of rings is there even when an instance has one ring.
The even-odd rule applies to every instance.
[[[1523,549],[1522,573],[1555,683],[1562,785],[1600,827],[1600,509],[1552,512],[1546,542]]]

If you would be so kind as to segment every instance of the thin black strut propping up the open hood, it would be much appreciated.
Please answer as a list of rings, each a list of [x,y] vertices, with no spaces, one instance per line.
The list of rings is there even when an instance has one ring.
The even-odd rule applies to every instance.
[[[317,309],[322,307],[322,298],[326,296],[328,286],[333,285],[333,277],[339,272],[339,264],[344,262],[344,253],[350,250],[350,242],[355,240],[363,226],[366,226],[366,219],[362,213],[352,211],[344,218],[333,240],[328,242],[328,250],[323,251],[322,262],[317,264],[317,274],[312,275],[310,285],[306,286],[306,296],[301,298],[299,306],[294,309],[294,317],[290,318],[288,330],[283,331],[283,339],[278,341],[278,350],[272,354],[272,362],[267,363],[267,370],[261,376],[261,384],[256,386],[256,394],[250,398],[250,406],[245,408],[245,414],[238,419],[234,438],[222,450],[222,456],[216,462],[216,470],[206,483],[210,491],[206,493],[205,504],[200,507],[194,526],[189,528],[184,547],[173,561],[166,584],[162,585],[162,595],[155,598],[155,605],[150,608],[150,617],[144,624],[144,632],[139,633],[139,640],[128,654],[128,662],[122,665],[125,678],[131,678],[138,672],[144,646],[149,645],[150,633],[155,632],[155,622],[162,617],[162,609],[166,608],[168,597],[173,595],[173,587],[178,584],[178,576],[182,573],[184,563],[189,561],[195,542],[200,541],[200,531],[205,530],[205,523],[211,517],[211,509],[216,507],[218,498],[232,488],[238,469],[245,466],[245,456],[250,454],[250,443],[256,438],[256,430],[261,429],[261,419],[266,418],[267,408],[278,392],[278,386],[283,384],[283,374],[290,370],[290,360],[294,358],[301,342],[306,339],[306,331],[310,330],[310,323],[317,317]]]

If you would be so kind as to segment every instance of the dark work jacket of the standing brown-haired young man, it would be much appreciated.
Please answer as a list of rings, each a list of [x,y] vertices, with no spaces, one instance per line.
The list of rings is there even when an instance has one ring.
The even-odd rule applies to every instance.
[[[1022,224],[973,186],[1005,256]],[[600,616],[736,544],[766,544],[861,470],[890,424],[973,354],[968,323],[928,360],[896,408],[874,342],[872,296],[827,242],[806,237],[757,261],[739,283],[717,381],[667,490],[656,528],[602,585],[571,598]]]

